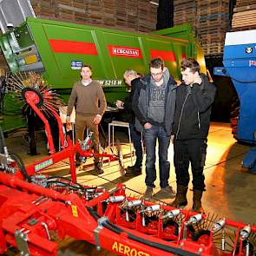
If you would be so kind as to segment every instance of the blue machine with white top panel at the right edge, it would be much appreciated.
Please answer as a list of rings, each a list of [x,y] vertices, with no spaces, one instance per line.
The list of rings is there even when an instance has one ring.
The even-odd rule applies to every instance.
[[[254,146],[243,167],[256,172],[256,30],[226,33],[223,65],[214,68],[214,75],[232,79],[240,99],[236,139]]]

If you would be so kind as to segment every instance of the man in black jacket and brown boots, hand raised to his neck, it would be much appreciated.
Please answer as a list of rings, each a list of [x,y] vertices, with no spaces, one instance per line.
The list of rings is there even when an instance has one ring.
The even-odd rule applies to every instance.
[[[200,65],[194,59],[181,62],[182,83],[177,89],[174,113],[174,166],[177,194],[174,207],[187,206],[188,167],[193,174],[193,210],[203,212],[201,197],[205,191],[203,168],[207,154],[207,135],[211,107],[216,88],[207,75],[200,74]]]

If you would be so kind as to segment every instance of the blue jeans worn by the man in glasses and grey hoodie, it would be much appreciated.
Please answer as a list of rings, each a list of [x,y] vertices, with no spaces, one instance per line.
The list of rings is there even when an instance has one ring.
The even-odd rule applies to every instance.
[[[170,136],[167,135],[166,130],[157,125],[152,128],[144,129],[144,141],[146,145],[146,185],[147,187],[155,187],[156,180],[155,170],[155,146],[156,139],[158,140],[158,155],[159,155],[159,170],[160,170],[160,187],[168,186],[168,179],[170,175],[170,163],[167,161],[167,151],[170,144]]]

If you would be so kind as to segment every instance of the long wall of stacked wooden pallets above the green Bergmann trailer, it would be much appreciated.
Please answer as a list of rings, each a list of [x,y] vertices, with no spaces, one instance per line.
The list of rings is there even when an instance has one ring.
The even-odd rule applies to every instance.
[[[148,0],[31,0],[30,3],[38,17],[114,29],[148,32],[155,30],[157,22],[157,5]]]

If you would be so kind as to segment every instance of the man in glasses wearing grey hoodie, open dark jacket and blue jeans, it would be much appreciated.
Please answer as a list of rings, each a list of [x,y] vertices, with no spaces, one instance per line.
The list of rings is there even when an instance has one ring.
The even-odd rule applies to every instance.
[[[149,63],[150,75],[141,79],[140,86],[133,97],[135,127],[143,132],[146,146],[146,185],[145,199],[153,195],[155,170],[155,147],[158,140],[160,187],[161,191],[174,197],[172,187],[168,185],[170,163],[167,161],[172,122],[174,118],[176,82],[168,72],[164,75],[164,64],[160,58]],[[166,69],[167,71],[167,69]]]

